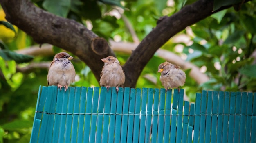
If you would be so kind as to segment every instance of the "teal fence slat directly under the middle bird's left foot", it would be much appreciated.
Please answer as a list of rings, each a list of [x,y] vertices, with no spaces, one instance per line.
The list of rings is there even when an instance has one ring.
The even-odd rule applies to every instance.
[[[102,142],[108,141],[108,125],[109,125],[109,113],[110,113],[110,103],[111,103],[111,93],[117,92],[115,88],[107,91],[105,107],[104,107],[104,115],[103,115],[103,132],[102,132]],[[111,129],[114,127],[110,127]]]

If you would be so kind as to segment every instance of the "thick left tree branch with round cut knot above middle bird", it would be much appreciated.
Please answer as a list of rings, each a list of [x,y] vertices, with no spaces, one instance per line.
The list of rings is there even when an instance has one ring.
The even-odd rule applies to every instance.
[[[114,56],[105,39],[74,20],[48,13],[30,0],[0,0],[0,4],[9,22],[37,43],[50,43],[72,52],[90,67],[97,80],[103,66],[100,59]]]

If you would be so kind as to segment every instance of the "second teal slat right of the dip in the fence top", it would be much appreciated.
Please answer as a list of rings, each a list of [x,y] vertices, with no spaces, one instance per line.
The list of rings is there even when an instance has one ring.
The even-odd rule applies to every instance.
[[[206,121],[206,103],[207,103],[207,91],[202,91],[201,99],[201,116],[200,116],[200,129],[199,129],[199,142],[204,143],[205,133],[205,121]]]

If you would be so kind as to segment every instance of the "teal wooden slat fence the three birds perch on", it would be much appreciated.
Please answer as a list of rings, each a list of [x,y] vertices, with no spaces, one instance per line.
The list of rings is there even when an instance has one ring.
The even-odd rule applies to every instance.
[[[183,94],[40,86],[30,142],[256,143],[255,93],[202,91],[195,104]]]

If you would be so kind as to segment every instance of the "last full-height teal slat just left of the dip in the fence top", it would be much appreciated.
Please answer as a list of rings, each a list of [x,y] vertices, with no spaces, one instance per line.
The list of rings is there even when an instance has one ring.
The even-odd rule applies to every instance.
[[[175,90],[174,90],[175,92]],[[182,115],[183,115],[183,95],[184,95],[184,89],[180,89],[179,94],[179,106],[178,106],[178,117],[177,117],[177,137],[176,142],[181,143],[182,141]]]

